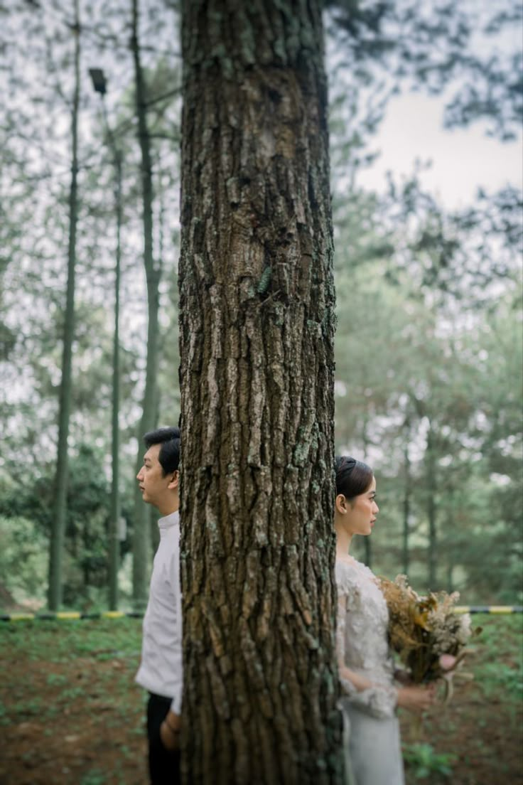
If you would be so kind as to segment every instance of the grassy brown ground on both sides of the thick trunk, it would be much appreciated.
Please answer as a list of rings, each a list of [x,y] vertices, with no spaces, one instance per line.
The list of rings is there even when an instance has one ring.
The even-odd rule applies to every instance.
[[[456,687],[421,727],[401,717],[408,785],[523,785],[523,618],[483,632]],[[143,785],[136,619],[0,623],[0,785]]]

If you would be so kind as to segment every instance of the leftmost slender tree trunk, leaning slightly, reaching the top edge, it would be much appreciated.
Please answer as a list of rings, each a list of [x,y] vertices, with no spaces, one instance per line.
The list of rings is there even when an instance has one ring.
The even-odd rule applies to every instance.
[[[78,222],[78,107],[80,104],[80,12],[74,2],[74,94],[71,116],[71,188],[69,190],[69,244],[67,250],[67,294],[64,314],[64,345],[58,414],[58,451],[56,458],[53,523],[49,552],[49,609],[56,611],[62,602],[62,557],[67,514],[68,436],[71,414],[71,373],[74,340],[74,278],[76,268],[76,226]]]

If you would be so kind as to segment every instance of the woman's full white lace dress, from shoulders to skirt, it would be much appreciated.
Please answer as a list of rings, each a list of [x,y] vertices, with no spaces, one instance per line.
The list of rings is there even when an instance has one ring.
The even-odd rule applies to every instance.
[[[354,785],[404,785],[394,688],[394,663],[387,643],[387,603],[365,564],[336,560],[338,659],[372,681],[361,692],[341,680],[340,706],[348,725]]]

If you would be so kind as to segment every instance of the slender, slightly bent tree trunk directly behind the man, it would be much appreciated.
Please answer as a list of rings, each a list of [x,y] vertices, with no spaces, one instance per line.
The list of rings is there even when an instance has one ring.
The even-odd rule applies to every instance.
[[[141,153],[141,184],[143,199],[143,264],[147,279],[147,364],[145,371],[145,392],[143,393],[142,418],[140,421],[136,473],[140,470],[143,456],[143,433],[154,429],[158,417],[158,302],[161,277],[160,265],[154,265],[153,256],[153,180],[151,164],[151,140],[147,130],[147,94],[140,61],[140,42],[138,35],[139,6],[133,0],[133,50],[135,70],[136,117]],[[133,601],[136,608],[147,602],[149,530],[151,510],[143,504],[140,492],[135,487],[134,531],[133,531]]]

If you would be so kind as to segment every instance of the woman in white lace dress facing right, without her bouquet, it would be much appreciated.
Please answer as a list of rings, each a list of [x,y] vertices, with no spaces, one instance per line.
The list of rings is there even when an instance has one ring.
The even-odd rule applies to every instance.
[[[353,535],[370,535],[379,512],[372,469],[336,458],[336,649],[354,785],[403,785],[396,707],[423,711],[434,703],[433,686],[394,685],[387,603],[372,571],[349,554]]]

